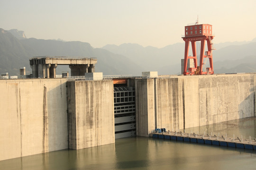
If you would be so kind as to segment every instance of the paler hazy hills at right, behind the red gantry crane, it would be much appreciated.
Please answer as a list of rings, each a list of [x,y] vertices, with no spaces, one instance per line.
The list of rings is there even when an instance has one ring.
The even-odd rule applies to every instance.
[[[251,42],[214,44],[214,48],[216,47],[217,50],[213,51],[215,73],[256,72],[256,67],[253,67],[256,65],[254,60],[256,56],[252,54],[256,48],[256,38]],[[106,45],[102,48],[128,57],[146,71],[158,71],[160,75],[181,74],[184,43],[176,43],[159,49],[131,43],[119,46]],[[192,55],[191,49],[190,55]]]

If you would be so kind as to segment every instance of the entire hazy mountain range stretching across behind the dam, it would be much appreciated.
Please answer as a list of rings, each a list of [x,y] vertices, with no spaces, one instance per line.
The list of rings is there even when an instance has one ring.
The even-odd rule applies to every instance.
[[[256,72],[256,38],[251,42],[225,42],[214,44],[213,67],[215,73]],[[191,51],[191,50],[190,50]],[[0,73],[17,75],[19,68],[31,72],[29,58],[35,56],[97,57],[96,72],[103,75],[139,76],[142,71],[158,71],[159,75],[181,74],[184,43],[164,48],[143,47],[124,43],[93,48],[87,42],[64,42],[26,38],[23,31],[0,28]],[[57,74],[69,71],[58,66]]]

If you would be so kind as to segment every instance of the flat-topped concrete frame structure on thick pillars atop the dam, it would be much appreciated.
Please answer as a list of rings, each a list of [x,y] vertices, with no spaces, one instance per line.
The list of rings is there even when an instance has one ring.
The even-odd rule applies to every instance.
[[[84,76],[85,73],[94,72],[96,58],[74,57],[32,57],[29,59],[34,78],[55,78],[58,65],[69,65],[71,76]]]

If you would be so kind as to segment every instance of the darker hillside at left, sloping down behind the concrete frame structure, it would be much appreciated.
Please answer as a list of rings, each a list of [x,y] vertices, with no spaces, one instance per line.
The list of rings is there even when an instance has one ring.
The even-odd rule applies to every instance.
[[[104,49],[94,49],[87,42],[62,42],[35,38],[18,39],[9,31],[0,29],[0,73],[19,74],[19,68],[31,71],[29,58],[35,56],[97,57],[95,71],[104,75],[141,75],[139,65],[125,56]],[[57,67],[57,74],[69,70]]]

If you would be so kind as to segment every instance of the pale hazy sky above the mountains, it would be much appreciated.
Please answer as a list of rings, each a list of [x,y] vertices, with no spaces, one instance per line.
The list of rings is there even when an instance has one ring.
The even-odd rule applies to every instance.
[[[184,26],[210,24],[214,43],[256,38],[256,0],[0,0],[0,28],[27,38],[165,47]]]

